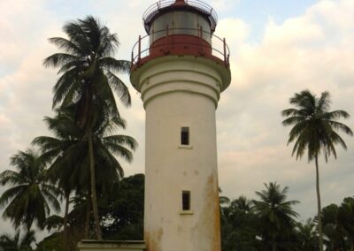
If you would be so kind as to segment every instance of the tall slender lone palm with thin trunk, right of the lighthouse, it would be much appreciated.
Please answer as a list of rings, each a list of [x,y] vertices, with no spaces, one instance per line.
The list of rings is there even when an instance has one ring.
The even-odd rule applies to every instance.
[[[320,251],[323,251],[319,194],[319,155],[323,154],[327,162],[328,156],[333,155],[336,158],[336,144],[340,144],[344,149],[347,148],[338,132],[346,133],[350,136],[353,133],[347,125],[336,120],[349,118],[350,115],[345,110],[329,111],[331,100],[328,92],[323,92],[318,98],[316,95],[312,95],[310,91],[304,90],[290,98],[290,103],[295,108],[282,110],[282,116],[288,117],[282,121],[282,125],[293,125],[289,133],[288,144],[295,141],[292,155],[296,154],[296,160],[304,156],[306,150],[308,161],[315,160],[319,248]]]

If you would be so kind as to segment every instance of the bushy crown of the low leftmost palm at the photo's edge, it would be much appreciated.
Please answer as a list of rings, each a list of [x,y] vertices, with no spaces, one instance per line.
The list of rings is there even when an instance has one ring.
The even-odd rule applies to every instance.
[[[12,186],[0,197],[0,208],[7,205],[3,217],[10,218],[15,228],[24,224],[27,232],[34,221],[42,228],[50,206],[60,209],[58,189],[46,179],[45,161],[35,150],[28,149],[12,156],[11,164],[16,171],[0,173],[0,184]]]

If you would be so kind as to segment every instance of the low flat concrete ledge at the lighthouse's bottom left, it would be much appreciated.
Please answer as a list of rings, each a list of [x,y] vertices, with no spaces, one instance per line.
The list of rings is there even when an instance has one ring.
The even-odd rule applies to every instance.
[[[81,240],[80,251],[143,251],[145,242],[142,240]]]

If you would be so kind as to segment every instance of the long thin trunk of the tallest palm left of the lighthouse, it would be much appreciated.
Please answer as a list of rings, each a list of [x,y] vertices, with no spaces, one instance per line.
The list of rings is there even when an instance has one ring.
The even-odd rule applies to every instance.
[[[92,209],[94,212],[95,221],[95,232],[96,239],[102,240],[102,232],[99,224],[98,217],[98,206],[97,206],[97,194],[96,194],[96,173],[95,173],[95,158],[94,158],[94,148],[92,142],[91,128],[88,130],[88,141],[89,141],[89,171],[91,176],[91,197],[92,197]]]

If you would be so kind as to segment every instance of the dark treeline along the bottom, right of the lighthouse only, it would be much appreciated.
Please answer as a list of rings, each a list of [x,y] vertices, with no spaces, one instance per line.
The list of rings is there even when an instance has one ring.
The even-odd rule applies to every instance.
[[[221,197],[222,250],[319,250],[317,216],[300,221],[293,209],[298,202],[287,201],[287,193],[288,187],[269,183],[255,199]],[[321,217],[325,250],[354,250],[354,197],[323,208]]]

